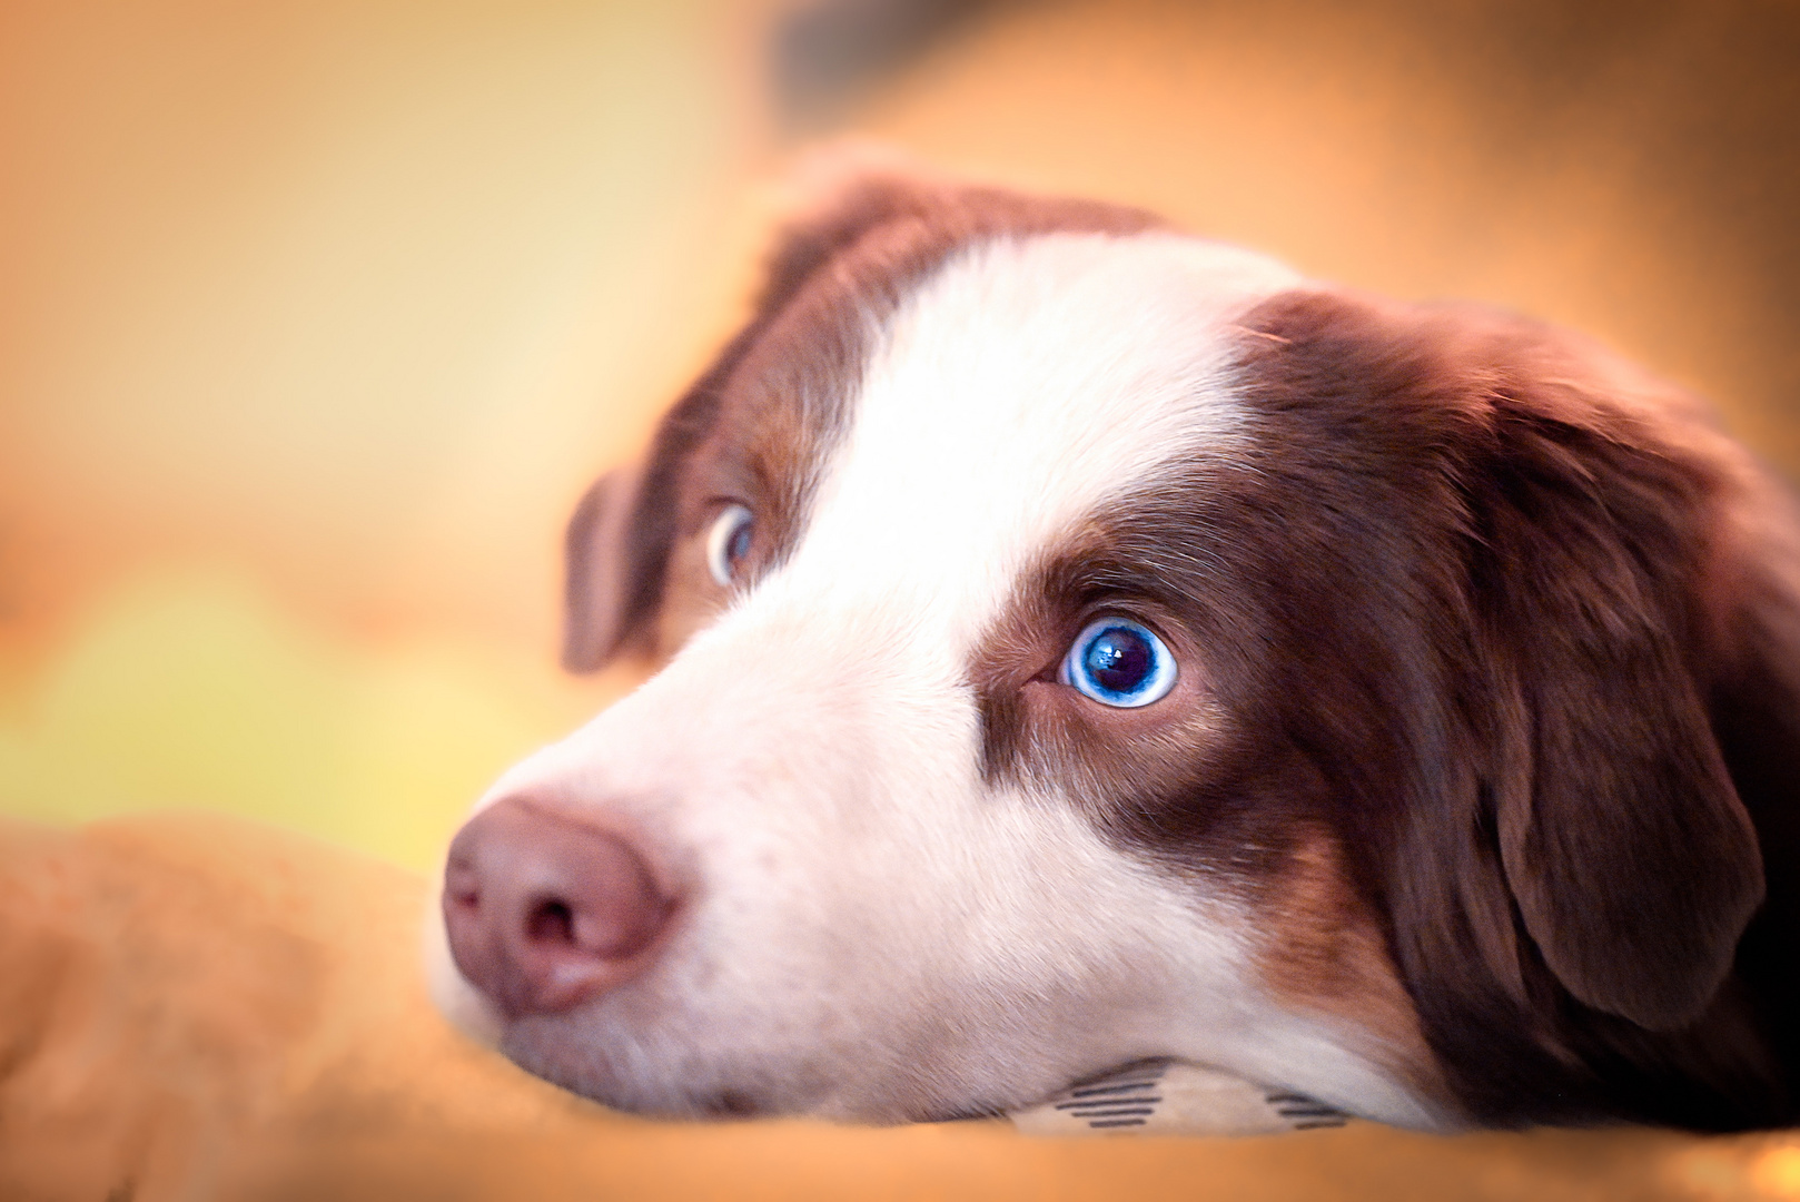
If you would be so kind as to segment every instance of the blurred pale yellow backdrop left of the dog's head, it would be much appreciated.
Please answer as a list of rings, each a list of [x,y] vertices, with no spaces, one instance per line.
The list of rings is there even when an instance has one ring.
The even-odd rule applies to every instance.
[[[558,528],[729,319],[745,18],[4,20],[0,807],[425,869],[608,696],[554,672]]]

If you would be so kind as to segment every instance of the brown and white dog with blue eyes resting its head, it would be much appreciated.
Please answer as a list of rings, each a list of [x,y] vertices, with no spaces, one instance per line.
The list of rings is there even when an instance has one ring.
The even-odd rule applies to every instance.
[[[851,171],[567,550],[567,667],[666,665],[450,849],[437,997],[531,1072],[1796,1121],[1800,526],[1593,344]]]

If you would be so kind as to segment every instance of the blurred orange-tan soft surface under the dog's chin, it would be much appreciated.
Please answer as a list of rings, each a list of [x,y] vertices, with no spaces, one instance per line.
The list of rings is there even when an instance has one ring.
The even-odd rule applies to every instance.
[[[468,1045],[428,887],[203,815],[0,825],[0,1198],[1778,1198],[1800,1141],[648,1123]]]

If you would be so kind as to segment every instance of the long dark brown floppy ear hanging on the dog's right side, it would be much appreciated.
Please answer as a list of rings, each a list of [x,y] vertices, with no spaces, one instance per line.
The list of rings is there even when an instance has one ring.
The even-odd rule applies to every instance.
[[[1492,824],[1519,921],[1580,1002],[1652,1031],[1717,995],[1764,876],[1708,714],[1708,465],[1566,371],[1492,389],[1471,488],[1494,669]]]

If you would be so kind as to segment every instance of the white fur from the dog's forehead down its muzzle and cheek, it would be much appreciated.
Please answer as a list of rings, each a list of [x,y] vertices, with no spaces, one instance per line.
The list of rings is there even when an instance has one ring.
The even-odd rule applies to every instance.
[[[490,793],[607,807],[698,888],[644,977],[502,1045],[652,1110],[738,1090],[902,1119],[1174,1054],[1436,1125],[1253,984],[1224,888],[979,773],[967,665],[1019,573],[1175,456],[1231,454],[1229,326],[1298,283],[1166,234],[1001,240],[925,279],[875,332],[787,564]],[[439,993],[466,1009],[454,970]]]

